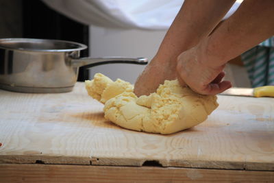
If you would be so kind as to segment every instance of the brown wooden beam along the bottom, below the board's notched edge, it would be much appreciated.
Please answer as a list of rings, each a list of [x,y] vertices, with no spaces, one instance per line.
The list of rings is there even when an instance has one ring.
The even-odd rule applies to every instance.
[[[0,182],[273,182],[273,171],[0,164]]]

